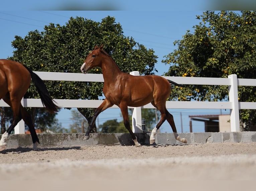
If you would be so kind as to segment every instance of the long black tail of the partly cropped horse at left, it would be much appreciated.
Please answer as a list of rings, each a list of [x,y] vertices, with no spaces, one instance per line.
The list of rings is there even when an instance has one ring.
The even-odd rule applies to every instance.
[[[59,107],[53,103],[54,100],[49,95],[42,79],[39,76],[37,76],[30,68],[28,68],[25,65],[23,65],[23,66],[29,71],[29,73],[31,75],[31,79],[32,79],[33,83],[35,84],[35,87],[40,95],[43,106],[45,106],[46,109],[50,113],[57,112],[57,109]]]

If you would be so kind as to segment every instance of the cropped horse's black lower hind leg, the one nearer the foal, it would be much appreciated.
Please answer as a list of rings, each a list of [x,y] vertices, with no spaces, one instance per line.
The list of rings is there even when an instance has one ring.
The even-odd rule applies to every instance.
[[[29,131],[30,131],[30,134],[32,137],[32,141],[33,141],[33,150],[38,150],[37,146],[39,144],[39,139],[35,132],[35,127],[33,125],[31,116],[21,104],[20,104],[20,113],[21,113],[22,119],[24,120],[24,122],[27,124],[27,126],[29,128]]]

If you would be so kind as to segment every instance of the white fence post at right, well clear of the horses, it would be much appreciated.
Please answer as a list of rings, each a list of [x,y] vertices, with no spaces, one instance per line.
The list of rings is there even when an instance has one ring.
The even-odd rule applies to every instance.
[[[232,109],[230,109],[230,126],[231,131],[240,131],[239,124],[239,105],[238,105],[238,88],[237,88],[237,75],[229,75],[231,80],[231,86],[229,86],[229,101],[232,103]]]

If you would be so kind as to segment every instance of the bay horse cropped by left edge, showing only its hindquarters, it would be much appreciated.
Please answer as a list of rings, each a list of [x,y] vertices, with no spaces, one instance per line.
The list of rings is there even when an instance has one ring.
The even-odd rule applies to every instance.
[[[13,110],[13,122],[2,135],[0,140],[0,151],[6,148],[6,140],[9,134],[21,119],[24,120],[30,130],[33,149],[37,149],[39,140],[31,116],[20,102],[29,88],[31,79],[39,92],[43,105],[49,112],[56,112],[58,107],[53,103],[46,86],[39,76],[33,73],[28,67],[18,62],[0,59],[0,99],[3,99]]]

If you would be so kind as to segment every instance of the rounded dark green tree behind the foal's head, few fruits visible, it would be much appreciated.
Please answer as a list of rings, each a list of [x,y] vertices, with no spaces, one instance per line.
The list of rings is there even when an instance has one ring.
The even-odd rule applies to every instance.
[[[87,55],[96,44],[102,43],[123,72],[140,71],[142,75],[149,75],[156,71],[154,51],[146,49],[132,37],[125,37],[120,23],[110,16],[103,18],[102,22],[71,17],[64,26],[50,23],[42,32],[30,31],[25,38],[15,36],[12,46],[16,50],[10,59],[33,71],[81,73]],[[95,68],[90,73],[100,74],[101,69]],[[98,99],[103,88],[103,83],[96,82],[49,81],[46,85],[50,95],[57,99]],[[25,96],[39,98],[34,86]],[[94,109],[78,110],[90,123]]]

